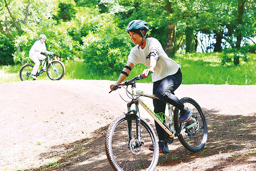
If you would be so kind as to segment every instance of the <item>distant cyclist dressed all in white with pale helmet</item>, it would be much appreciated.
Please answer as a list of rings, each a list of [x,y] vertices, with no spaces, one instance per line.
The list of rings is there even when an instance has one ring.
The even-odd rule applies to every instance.
[[[38,71],[39,65],[40,65],[40,61],[39,60],[43,60],[46,57],[44,55],[42,55],[41,53],[49,53],[49,54],[53,54],[53,52],[49,52],[46,50],[46,46],[45,46],[45,40],[46,40],[46,35],[41,34],[39,36],[40,40],[37,40],[31,47],[30,51],[29,51],[29,58],[33,60],[33,62],[35,63],[33,70],[30,74],[30,76],[34,79],[36,79],[36,73]],[[43,72],[46,71],[46,62],[43,65]]]

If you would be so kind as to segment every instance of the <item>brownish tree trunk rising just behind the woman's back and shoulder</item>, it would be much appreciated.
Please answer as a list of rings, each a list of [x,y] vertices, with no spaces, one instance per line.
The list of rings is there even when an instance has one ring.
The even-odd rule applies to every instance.
[[[167,25],[167,36],[165,50],[169,57],[172,57],[176,53],[176,25],[169,23]]]

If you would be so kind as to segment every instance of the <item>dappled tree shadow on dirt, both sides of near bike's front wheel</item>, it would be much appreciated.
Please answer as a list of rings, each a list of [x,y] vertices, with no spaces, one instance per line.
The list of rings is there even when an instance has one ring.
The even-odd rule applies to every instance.
[[[232,153],[226,158],[216,157],[214,167],[210,170],[222,170],[234,163],[250,163],[248,158],[255,156],[253,150],[255,139],[255,113],[251,116],[217,114],[219,111],[203,109],[208,125],[208,140],[205,148],[198,153],[187,151],[178,140],[169,145],[170,153],[160,155],[159,166],[175,167],[181,163],[192,163],[195,160],[209,158],[221,153]],[[254,115],[254,116],[253,116]],[[152,125],[153,126],[153,125]],[[112,170],[105,154],[105,133],[108,126],[104,126],[92,133],[92,138],[81,139],[70,144],[52,146],[51,153],[41,154],[42,159],[56,157],[55,163],[48,163],[36,170],[72,170],[72,171],[109,171]],[[172,147],[175,149],[172,150]],[[247,151],[244,151],[247,150]],[[234,162],[235,161],[235,162]],[[201,165],[204,165],[202,162]]]

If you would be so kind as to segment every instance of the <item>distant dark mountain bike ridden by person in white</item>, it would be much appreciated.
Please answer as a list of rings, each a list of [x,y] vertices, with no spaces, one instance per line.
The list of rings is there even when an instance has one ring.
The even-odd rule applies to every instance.
[[[46,65],[47,65],[46,73],[47,73],[48,77],[51,80],[60,80],[65,74],[64,64],[59,60],[52,60],[49,57],[49,55],[51,55],[53,57],[52,54],[49,54],[49,53],[45,53],[45,54],[46,54],[46,57],[45,57],[45,59],[43,59],[40,62],[41,69],[39,72],[36,73],[36,76],[39,76],[43,73],[43,66],[46,63]],[[31,64],[25,64],[21,67],[21,69],[19,71],[19,77],[20,77],[21,81],[35,80],[34,78],[32,78],[30,76],[33,67],[34,67],[34,65],[31,65]]]

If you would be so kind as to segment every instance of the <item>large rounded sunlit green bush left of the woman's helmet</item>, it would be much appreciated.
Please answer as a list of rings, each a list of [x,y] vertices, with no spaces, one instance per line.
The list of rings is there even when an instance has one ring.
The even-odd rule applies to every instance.
[[[132,48],[125,30],[120,29],[108,14],[95,16],[95,29],[83,40],[83,58],[89,68],[99,74],[120,72]]]

